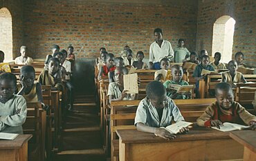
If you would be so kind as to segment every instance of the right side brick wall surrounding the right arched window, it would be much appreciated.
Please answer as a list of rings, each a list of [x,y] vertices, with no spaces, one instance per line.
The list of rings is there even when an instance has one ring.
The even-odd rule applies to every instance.
[[[197,14],[196,50],[212,51],[214,22],[224,15],[235,19],[232,57],[236,52],[245,54],[245,63],[256,62],[256,3],[255,0],[199,0]]]

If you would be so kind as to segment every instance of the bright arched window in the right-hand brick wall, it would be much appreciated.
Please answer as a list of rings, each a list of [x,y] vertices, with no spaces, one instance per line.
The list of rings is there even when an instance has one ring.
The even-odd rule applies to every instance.
[[[221,52],[221,61],[224,63],[232,59],[234,31],[235,19],[230,16],[220,17],[213,25],[212,56],[215,52]]]

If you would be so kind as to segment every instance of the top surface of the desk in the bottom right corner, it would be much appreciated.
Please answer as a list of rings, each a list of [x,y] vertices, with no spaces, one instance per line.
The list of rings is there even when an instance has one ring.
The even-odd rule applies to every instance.
[[[256,131],[232,131],[230,132],[230,137],[256,153]]]

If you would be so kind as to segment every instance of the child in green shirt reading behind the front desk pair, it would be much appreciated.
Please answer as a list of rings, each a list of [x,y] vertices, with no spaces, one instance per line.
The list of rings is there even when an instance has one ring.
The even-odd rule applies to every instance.
[[[191,94],[177,94],[176,90],[172,90],[169,87],[170,84],[174,85],[188,85],[187,81],[183,81],[183,69],[180,65],[174,65],[172,66],[172,81],[168,80],[165,83],[163,83],[163,86],[165,86],[167,91],[167,96],[172,99],[189,99],[191,98]]]

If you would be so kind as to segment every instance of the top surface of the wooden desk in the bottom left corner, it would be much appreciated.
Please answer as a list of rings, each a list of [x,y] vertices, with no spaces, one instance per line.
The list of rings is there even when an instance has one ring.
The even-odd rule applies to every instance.
[[[0,140],[1,149],[19,149],[25,142],[28,142],[32,135],[19,135],[15,140]]]

